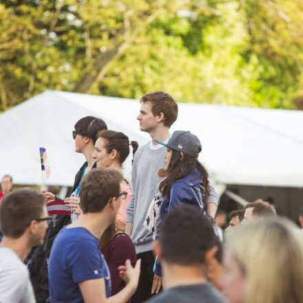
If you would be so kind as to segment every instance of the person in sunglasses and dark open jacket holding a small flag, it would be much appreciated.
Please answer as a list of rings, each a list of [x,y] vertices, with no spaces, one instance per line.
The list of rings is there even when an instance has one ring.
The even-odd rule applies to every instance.
[[[85,163],[77,172],[74,179],[74,186],[63,202],[61,198],[55,196],[51,192],[43,192],[45,202],[52,202],[55,200],[58,205],[58,214],[55,215],[54,224],[51,224],[46,232],[44,245],[32,251],[30,257],[25,261],[30,270],[30,278],[34,287],[34,294],[37,303],[50,302],[50,291],[48,286],[48,260],[50,258],[50,249],[54,238],[61,231],[61,229],[71,222],[71,215],[61,215],[61,205],[69,205],[72,215],[79,203],[79,191],[81,188],[81,180],[85,174],[96,167],[96,163],[92,158],[94,153],[94,144],[96,143],[96,134],[102,130],[107,129],[107,125],[101,118],[93,116],[86,116],[81,118],[75,125],[72,136],[75,142],[75,151],[85,156]],[[62,202],[61,205],[59,202]],[[56,204],[56,203],[55,203]],[[55,208],[55,206],[54,206]],[[68,213],[68,211],[67,211]]]

